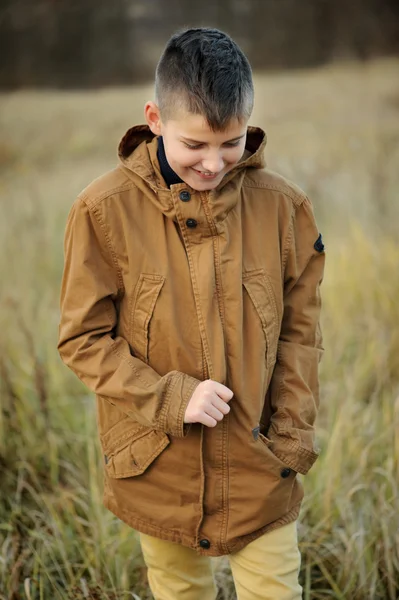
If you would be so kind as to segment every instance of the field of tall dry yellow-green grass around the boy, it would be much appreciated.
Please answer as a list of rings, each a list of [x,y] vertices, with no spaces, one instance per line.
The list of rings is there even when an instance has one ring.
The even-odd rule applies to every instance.
[[[312,198],[327,252],[305,600],[399,598],[398,67],[256,77],[267,162]],[[69,207],[151,94],[0,96],[1,600],[150,598],[135,532],[102,507],[93,397],[56,342]],[[217,577],[233,599],[225,560]]]

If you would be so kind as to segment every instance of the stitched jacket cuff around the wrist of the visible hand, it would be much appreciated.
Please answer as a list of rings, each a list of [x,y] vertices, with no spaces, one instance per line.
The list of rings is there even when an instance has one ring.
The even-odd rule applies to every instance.
[[[200,383],[201,381],[185,373],[173,373],[157,429],[174,437],[185,437],[188,434],[191,424],[184,423],[184,415],[194,390]]]

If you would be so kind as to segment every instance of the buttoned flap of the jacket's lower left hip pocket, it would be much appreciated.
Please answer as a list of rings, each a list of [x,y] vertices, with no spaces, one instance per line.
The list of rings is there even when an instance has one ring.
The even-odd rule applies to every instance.
[[[114,479],[141,475],[169,444],[166,433],[146,429],[104,456],[106,471]]]

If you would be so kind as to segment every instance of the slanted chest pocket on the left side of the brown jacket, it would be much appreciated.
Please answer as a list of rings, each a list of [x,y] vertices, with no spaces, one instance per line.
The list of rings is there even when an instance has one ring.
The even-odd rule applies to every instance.
[[[149,327],[156,301],[165,282],[163,275],[142,273],[130,310],[129,337],[135,356],[148,363]]]

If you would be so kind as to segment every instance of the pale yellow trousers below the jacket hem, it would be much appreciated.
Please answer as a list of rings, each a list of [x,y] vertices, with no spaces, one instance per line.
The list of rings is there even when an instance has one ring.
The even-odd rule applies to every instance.
[[[140,534],[155,600],[215,600],[212,559],[191,548]],[[238,600],[300,600],[296,522],[229,555]]]

